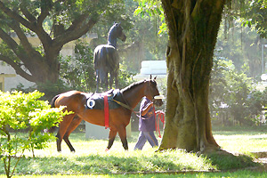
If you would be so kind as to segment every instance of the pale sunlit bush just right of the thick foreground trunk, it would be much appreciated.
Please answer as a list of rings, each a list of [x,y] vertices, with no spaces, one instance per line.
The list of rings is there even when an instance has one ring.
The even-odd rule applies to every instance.
[[[209,101],[216,115],[227,112],[229,119],[239,121],[240,125],[251,125],[266,100],[263,93],[255,91],[252,78],[238,72],[232,61],[214,59]]]

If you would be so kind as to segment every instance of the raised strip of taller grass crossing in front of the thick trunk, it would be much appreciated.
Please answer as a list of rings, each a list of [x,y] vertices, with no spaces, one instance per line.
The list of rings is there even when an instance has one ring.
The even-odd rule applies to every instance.
[[[21,158],[15,174],[133,174],[233,170],[251,166],[259,166],[259,164],[247,156],[215,152],[208,156],[198,157],[195,154],[176,150],[171,153],[166,151],[166,154],[157,153],[149,156],[135,152],[134,155],[125,156],[92,154],[80,157],[60,155]],[[4,169],[0,169],[0,174],[4,174]]]

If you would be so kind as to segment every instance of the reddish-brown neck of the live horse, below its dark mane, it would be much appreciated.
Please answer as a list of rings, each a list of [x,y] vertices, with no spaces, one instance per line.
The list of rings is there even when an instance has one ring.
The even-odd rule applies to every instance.
[[[144,97],[145,87],[143,87],[142,85],[138,85],[134,87],[133,90],[128,90],[128,91],[125,91],[124,93],[125,101],[133,109],[142,100],[142,97]]]

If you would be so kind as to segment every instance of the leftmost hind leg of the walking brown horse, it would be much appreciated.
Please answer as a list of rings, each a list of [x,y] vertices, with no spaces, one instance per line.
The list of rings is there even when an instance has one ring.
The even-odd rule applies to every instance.
[[[69,127],[69,124],[71,123],[74,116],[75,116],[75,114],[70,114],[68,116],[65,116],[60,123],[59,131],[58,131],[58,134],[56,135],[56,137],[57,137],[57,150],[59,152],[61,152],[61,142],[62,142],[63,136],[65,135],[65,133]]]

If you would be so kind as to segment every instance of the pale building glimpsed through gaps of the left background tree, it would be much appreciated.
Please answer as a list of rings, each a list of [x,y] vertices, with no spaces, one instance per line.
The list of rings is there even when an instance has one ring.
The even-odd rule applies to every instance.
[[[84,42],[90,43],[93,38],[97,38],[97,34],[89,34],[87,36],[83,36],[80,39]],[[18,43],[20,40],[17,36],[12,36],[12,38]],[[40,40],[36,36],[28,36],[28,41],[33,46],[41,45]],[[1,42],[1,39],[0,39]],[[61,49],[61,55],[67,56],[72,55],[74,53],[75,44],[77,41],[71,41],[68,44],[65,44]],[[20,75],[17,75],[15,70],[8,64],[0,61],[0,90],[7,92],[11,91],[12,88],[16,88],[17,85],[24,85],[26,88],[34,85],[35,83],[29,82]]]

